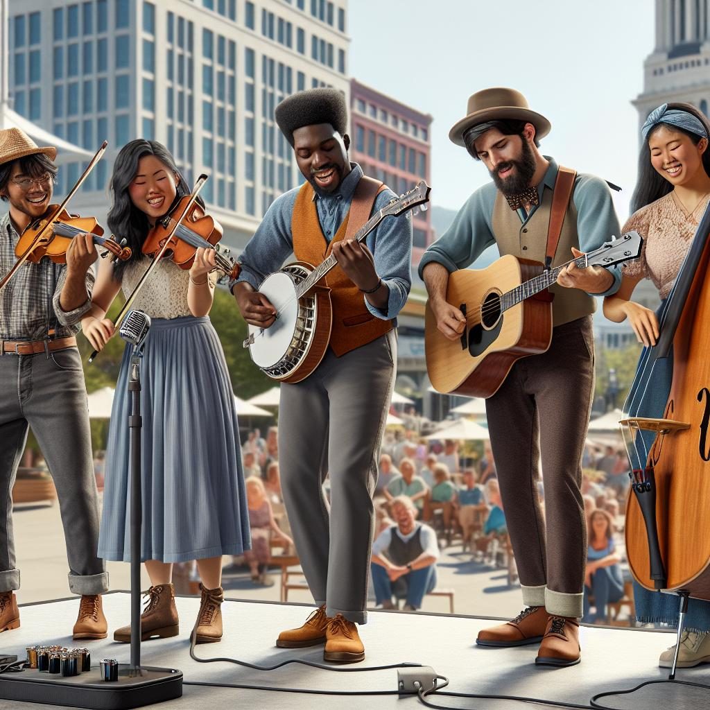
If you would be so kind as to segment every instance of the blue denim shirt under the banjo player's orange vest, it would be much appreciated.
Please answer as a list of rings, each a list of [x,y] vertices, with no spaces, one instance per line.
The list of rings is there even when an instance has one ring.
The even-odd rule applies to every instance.
[[[363,175],[357,163],[331,195],[316,195],[316,209],[325,239],[330,242],[350,209],[355,187]],[[291,218],[300,187],[277,197],[268,208],[261,224],[241,253],[242,271],[239,278],[229,283],[229,288],[239,281],[258,288],[267,275],[278,271],[293,253]],[[374,209],[381,209],[397,195],[383,190],[376,197]],[[402,310],[412,285],[412,217],[405,212],[399,217],[388,216],[368,234],[365,244],[372,252],[378,276],[389,289],[387,310],[373,306],[363,295],[364,303],[373,316],[391,320]],[[318,266],[313,264],[313,266]],[[338,268],[338,267],[336,267]]]

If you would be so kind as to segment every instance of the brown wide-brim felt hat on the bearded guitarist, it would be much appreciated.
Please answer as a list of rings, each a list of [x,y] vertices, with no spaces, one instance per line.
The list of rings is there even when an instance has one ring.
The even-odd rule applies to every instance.
[[[454,124],[454,127],[449,131],[449,138],[457,146],[465,146],[464,133],[468,129],[487,121],[501,119],[516,119],[531,123],[535,126],[536,138],[547,136],[552,128],[550,121],[545,116],[530,110],[527,99],[519,91],[506,89],[506,87],[495,87],[471,94],[466,107],[466,116]]]

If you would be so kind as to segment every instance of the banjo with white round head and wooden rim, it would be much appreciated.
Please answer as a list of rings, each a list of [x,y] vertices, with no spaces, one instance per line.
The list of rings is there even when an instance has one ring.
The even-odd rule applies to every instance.
[[[421,180],[413,190],[373,214],[352,238],[364,241],[388,215],[403,214],[425,204],[430,190]],[[337,261],[332,255],[315,268],[305,261],[295,261],[261,283],[259,293],[273,304],[276,320],[268,328],[250,325],[249,337],[243,345],[249,348],[254,364],[272,379],[300,382],[323,359],[330,340],[333,312],[330,289],[320,281],[334,266]]]

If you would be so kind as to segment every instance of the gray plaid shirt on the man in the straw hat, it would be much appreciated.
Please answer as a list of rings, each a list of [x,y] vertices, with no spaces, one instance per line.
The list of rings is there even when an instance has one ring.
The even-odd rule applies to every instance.
[[[17,261],[15,245],[20,239],[9,212],[0,217],[0,274],[5,275]],[[79,321],[91,307],[94,272],[89,269],[86,283],[89,298],[72,311],[63,311],[59,297],[67,276],[64,264],[49,258],[39,263],[23,263],[4,288],[0,289],[0,339],[42,340],[67,337],[80,330]],[[1,278],[1,277],[0,277]]]

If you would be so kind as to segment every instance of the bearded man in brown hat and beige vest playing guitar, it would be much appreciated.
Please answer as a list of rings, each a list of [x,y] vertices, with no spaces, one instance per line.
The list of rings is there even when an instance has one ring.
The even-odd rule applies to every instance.
[[[550,122],[528,108],[523,94],[498,88],[473,94],[468,114],[449,133],[454,143],[484,163],[493,179],[471,195],[420,262],[437,328],[452,341],[461,339],[466,318],[458,303],[446,300],[449,273],[469,266],[487,246],[496,244],[501,254],[540,263],[549,255],[557,266],[619,234],[603,180],[558,168],[553,158],[540,153],[539,140],[549,131]],[[554,214],[553,192],[559,202]],[[555,224],[561,224],[559,233],[548,230]],[[496,646],[542,641],[538,665],[566,666],[580,659],[577,618],[584,599],[586,543],[579,486],[594,395],[591,294],[615,293],[619,283],[618,271],[574,264],[563,268],[550,288],[555,300],[549,349],[515,362],[486,400],[527,608],[509,623],[482,630],[477,641]],[[537,497],[540,459],[545,518]]]

